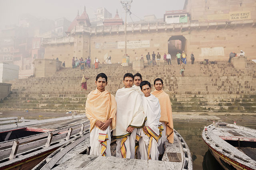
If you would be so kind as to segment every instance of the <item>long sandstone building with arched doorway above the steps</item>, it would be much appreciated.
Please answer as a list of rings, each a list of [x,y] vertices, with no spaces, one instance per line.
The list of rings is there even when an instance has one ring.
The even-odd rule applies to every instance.
[[[175,15],[178,23],[165,21]],[[169,52],[175,57],[177,52],[186,51],[188,56],[194,52],[196,61],[228,61],[231,51],[239,53],[242,49],[247,59],[256,59],[256,6],[252,0],[186,0],[180,14],[166,12],[164,17],[161,22],[127,25],[130,57],[135,52],[145,57],[152,51],[161,55]],[[124,25],[78,24],[70,31],[70,38],[44,42],[45,58],[58,56],[71,66],[73,56],[90,55],[92,61],[95,57],[103,61],[108,53],[112,63],[118,63],[124,55],[124,39]]]

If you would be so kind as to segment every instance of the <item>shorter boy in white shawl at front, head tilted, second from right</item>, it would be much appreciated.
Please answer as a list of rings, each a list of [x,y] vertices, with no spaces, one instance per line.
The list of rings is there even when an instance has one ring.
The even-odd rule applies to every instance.
[[[142,96],[142,104],[144,114],[147,117],[145,125],[142,127],[142,129],[140,129],[140,131],[137,132],[140,135],[140,159],[158,160],[158,140],[162,137],[163,131],[162,124],[160,123],[161,109],[159,100],[153,94],[150,94],[150,82],[141,82],[140,89],[144,94],[144,96]]]

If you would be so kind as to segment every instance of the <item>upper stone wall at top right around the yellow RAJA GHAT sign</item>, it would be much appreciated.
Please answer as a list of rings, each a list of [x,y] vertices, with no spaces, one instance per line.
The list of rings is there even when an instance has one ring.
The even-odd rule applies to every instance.
[[[190,14],[190,20],[208,21],[238,21],[241,16],[231,14],[248,13],[243,20],[256,19],[255,0],[186,0],[184,9]],[[246,15],[245,15],[246,16]]]

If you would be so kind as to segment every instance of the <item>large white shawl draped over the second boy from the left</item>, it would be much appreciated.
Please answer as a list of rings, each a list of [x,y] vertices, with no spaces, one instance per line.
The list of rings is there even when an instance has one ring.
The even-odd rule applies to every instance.
[[[142,98],[134,87],[121,88],[116,92],[116,129],[113,136],[116,139],[130,135],[128,126],[141,128],[144,125]]]

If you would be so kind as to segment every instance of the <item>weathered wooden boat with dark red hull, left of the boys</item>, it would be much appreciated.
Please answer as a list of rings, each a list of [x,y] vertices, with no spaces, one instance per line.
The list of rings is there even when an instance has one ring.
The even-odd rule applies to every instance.
[[[0,118],[0,170],[32,169],[63,145],[84,141],[89,127],[85,115],[44,120]]]

